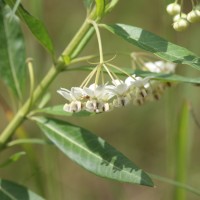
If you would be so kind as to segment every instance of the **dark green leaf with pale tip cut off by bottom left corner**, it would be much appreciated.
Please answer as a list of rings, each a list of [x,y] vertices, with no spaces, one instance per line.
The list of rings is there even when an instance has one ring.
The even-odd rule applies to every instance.
[[[1,200],[44,200],[42,197],[17,183],[0,179]]]

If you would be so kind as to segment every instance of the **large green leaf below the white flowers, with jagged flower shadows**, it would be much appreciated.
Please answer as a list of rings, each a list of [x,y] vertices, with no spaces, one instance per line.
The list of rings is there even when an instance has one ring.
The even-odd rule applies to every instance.
[[[70,159],[109,179],[153,186],[149,176],[102,138],[65,121],[34,117],[45,135]]]

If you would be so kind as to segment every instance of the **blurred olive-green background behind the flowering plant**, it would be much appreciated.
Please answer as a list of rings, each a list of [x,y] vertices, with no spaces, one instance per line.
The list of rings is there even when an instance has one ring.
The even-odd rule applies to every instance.
[[[165,12],[169,2],[121,0],[103,22],[109,24],[120,22],[144,28],[200,55],[199,24],[192,25],[185,32],[175,32],[171,26],[172,19]],[[191,10],[190,1],[185,2],[185,10]],[[57,56],[66,47],[86,16],[81,0],[32,0],[22,3],[30,13],[45,23],[53,39]],[[34,59],[34,70],[39,82],[50,68],[51,60],[23,24],[22,28],[25,33],[27,57]],[[107,31],[102,30],[101,35],[104,52],[116,54],[114,62],[118,66],[130,65],[128,57],[118,54],[140,51]],[[82,55],[94,52],[98,53],[95,36]],[[188,66],[178,66],[177,73],[191,77],[200,75],[198,71]],[[49,105],[63,104],[64,99],[56,93],[56,90],[60,87],[79,86],[86,74],[69,72],[59,75],[49,88],[52,96]],[[5,87],[0,84],[0,89],[4,91]],[[5,92],[4,98],[8,99],[9,94]],[[168,89],[159,101],[138,107],[129,105],[93,117],[70,117],[65,120],[103,137],[145,171],[174,178],[178,115],[186,100],[200,122],[199,99],[198,86],[178,84]],[[10,104],[13,105],[13,102]],[[1,108],[0,116],[2,130],[7,120]],[[25,129],[31,137],[44,137],[30,122],[25,123]],[[192,115],[189,131],[187,183],[200,188],[200,128]],[[6,150],[1,153],[0,161],[22,148]],[[159,181],[155,181],[155,188],[148,188],[97,177],[74,164],[52,146],[34,145],[32,154],[24,156],[6,168],[1,168],[0,177],[28,185],[33,191],[45,195],[48,200],[167,200],[172,199],[174,191],[172,186]],[[187,199],[199,198],[188,193]]]

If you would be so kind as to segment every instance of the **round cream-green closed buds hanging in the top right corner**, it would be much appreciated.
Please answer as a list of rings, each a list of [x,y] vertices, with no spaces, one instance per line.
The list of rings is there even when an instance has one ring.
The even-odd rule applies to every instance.
[[[182,0],[183,2],[183,0]],[[199,5],[195,5],[194,1],[192,2],[192,10],[185,14],[182,12],[183,10],[183,3],[180,5],[178,3],[178,0],[176,0],[174,3],[170,3],[166,10],[169,15],[173,16],[173,28],[176,31],[184,31],[186,30],[190,23],[198,23],[200,22],[200,8]]]

